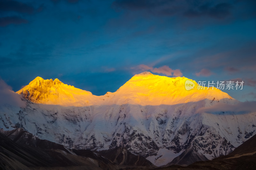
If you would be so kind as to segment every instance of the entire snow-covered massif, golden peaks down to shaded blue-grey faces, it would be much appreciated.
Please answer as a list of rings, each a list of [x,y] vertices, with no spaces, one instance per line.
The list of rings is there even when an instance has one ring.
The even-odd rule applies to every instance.
[[[186,161],[178,157],[174,163],[227,155],[255,134],[255,112],[206,111],[239,102],[216,88],[186,90],[187,80],[144,72],[114,93],[94,96],[58,79],[37,77],[17,92],[25,107],[0,107],[0,128],[24,128],[69,148],[124,147],[157,166],[180,155]]]

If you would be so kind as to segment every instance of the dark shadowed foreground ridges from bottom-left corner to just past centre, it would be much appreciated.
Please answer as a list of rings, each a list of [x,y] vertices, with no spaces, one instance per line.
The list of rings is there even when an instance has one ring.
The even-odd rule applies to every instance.
[[[19,165],[24,169],[32,166],[61,166],[63,168],[66,166],[80,166],[83,169],[83,166],[86,166],[87,169],[119,169],[123,167],[132,168],[134,166],[140,168],[154,167],[147,159],[124,149],[113,149],[97,154],[90,150],[69,150],[63,145],[39,139],[21,128],[11,131],[0,130],[0,132],[2,132],[0,133],[0,151],[3,169],[8,169],[8,167],[16,169]],[[121,158],[122,153],[125,155],[124,158]],[[117,160],[121,158],[124,161],[116,161],[116,159],[114,162],[111,161],[113,156],[116,155],[118,157]]]

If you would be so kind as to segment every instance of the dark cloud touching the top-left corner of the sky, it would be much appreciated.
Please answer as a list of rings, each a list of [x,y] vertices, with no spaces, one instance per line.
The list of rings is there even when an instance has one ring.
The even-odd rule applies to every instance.
[[[36,9],[28,4],[13,1],[13,0],[1,0],[0,1],[0,12],[14,11],[19,13],[33,14]]]

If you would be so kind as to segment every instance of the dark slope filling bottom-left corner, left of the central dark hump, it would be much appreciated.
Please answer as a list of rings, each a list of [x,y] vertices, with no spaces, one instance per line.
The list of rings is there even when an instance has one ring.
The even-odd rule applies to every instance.
[[[0,133],[0,167],[2,169],[29,169],[34,167],[69,169],[70,166],[71,169],[88,170],[118,168],[107,158],[103,158],[92,151],[85,150],[83,156],[77,156],[64,146],[38,139],[23,129],[15,129],[4,133],[13,138],[15,142]]]

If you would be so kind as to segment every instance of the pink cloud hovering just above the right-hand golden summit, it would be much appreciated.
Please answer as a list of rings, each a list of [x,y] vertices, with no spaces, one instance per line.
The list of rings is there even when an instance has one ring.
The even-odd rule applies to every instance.
[[[147,71],[150,70],[153,73],[159,73],[159,74],[165,74],[167,76],[174,76],[174,77],[181,77],[182,73],[180,72],[180,69],[176,69],[176,70],[172,70],[169,66],[162,66],[159,68],[154,68],[154,67],[150,67],[147,65],[139,65],[137,67],[133,67],[132,69],[138,69],[138,70],[142,70],[142,71]]]

